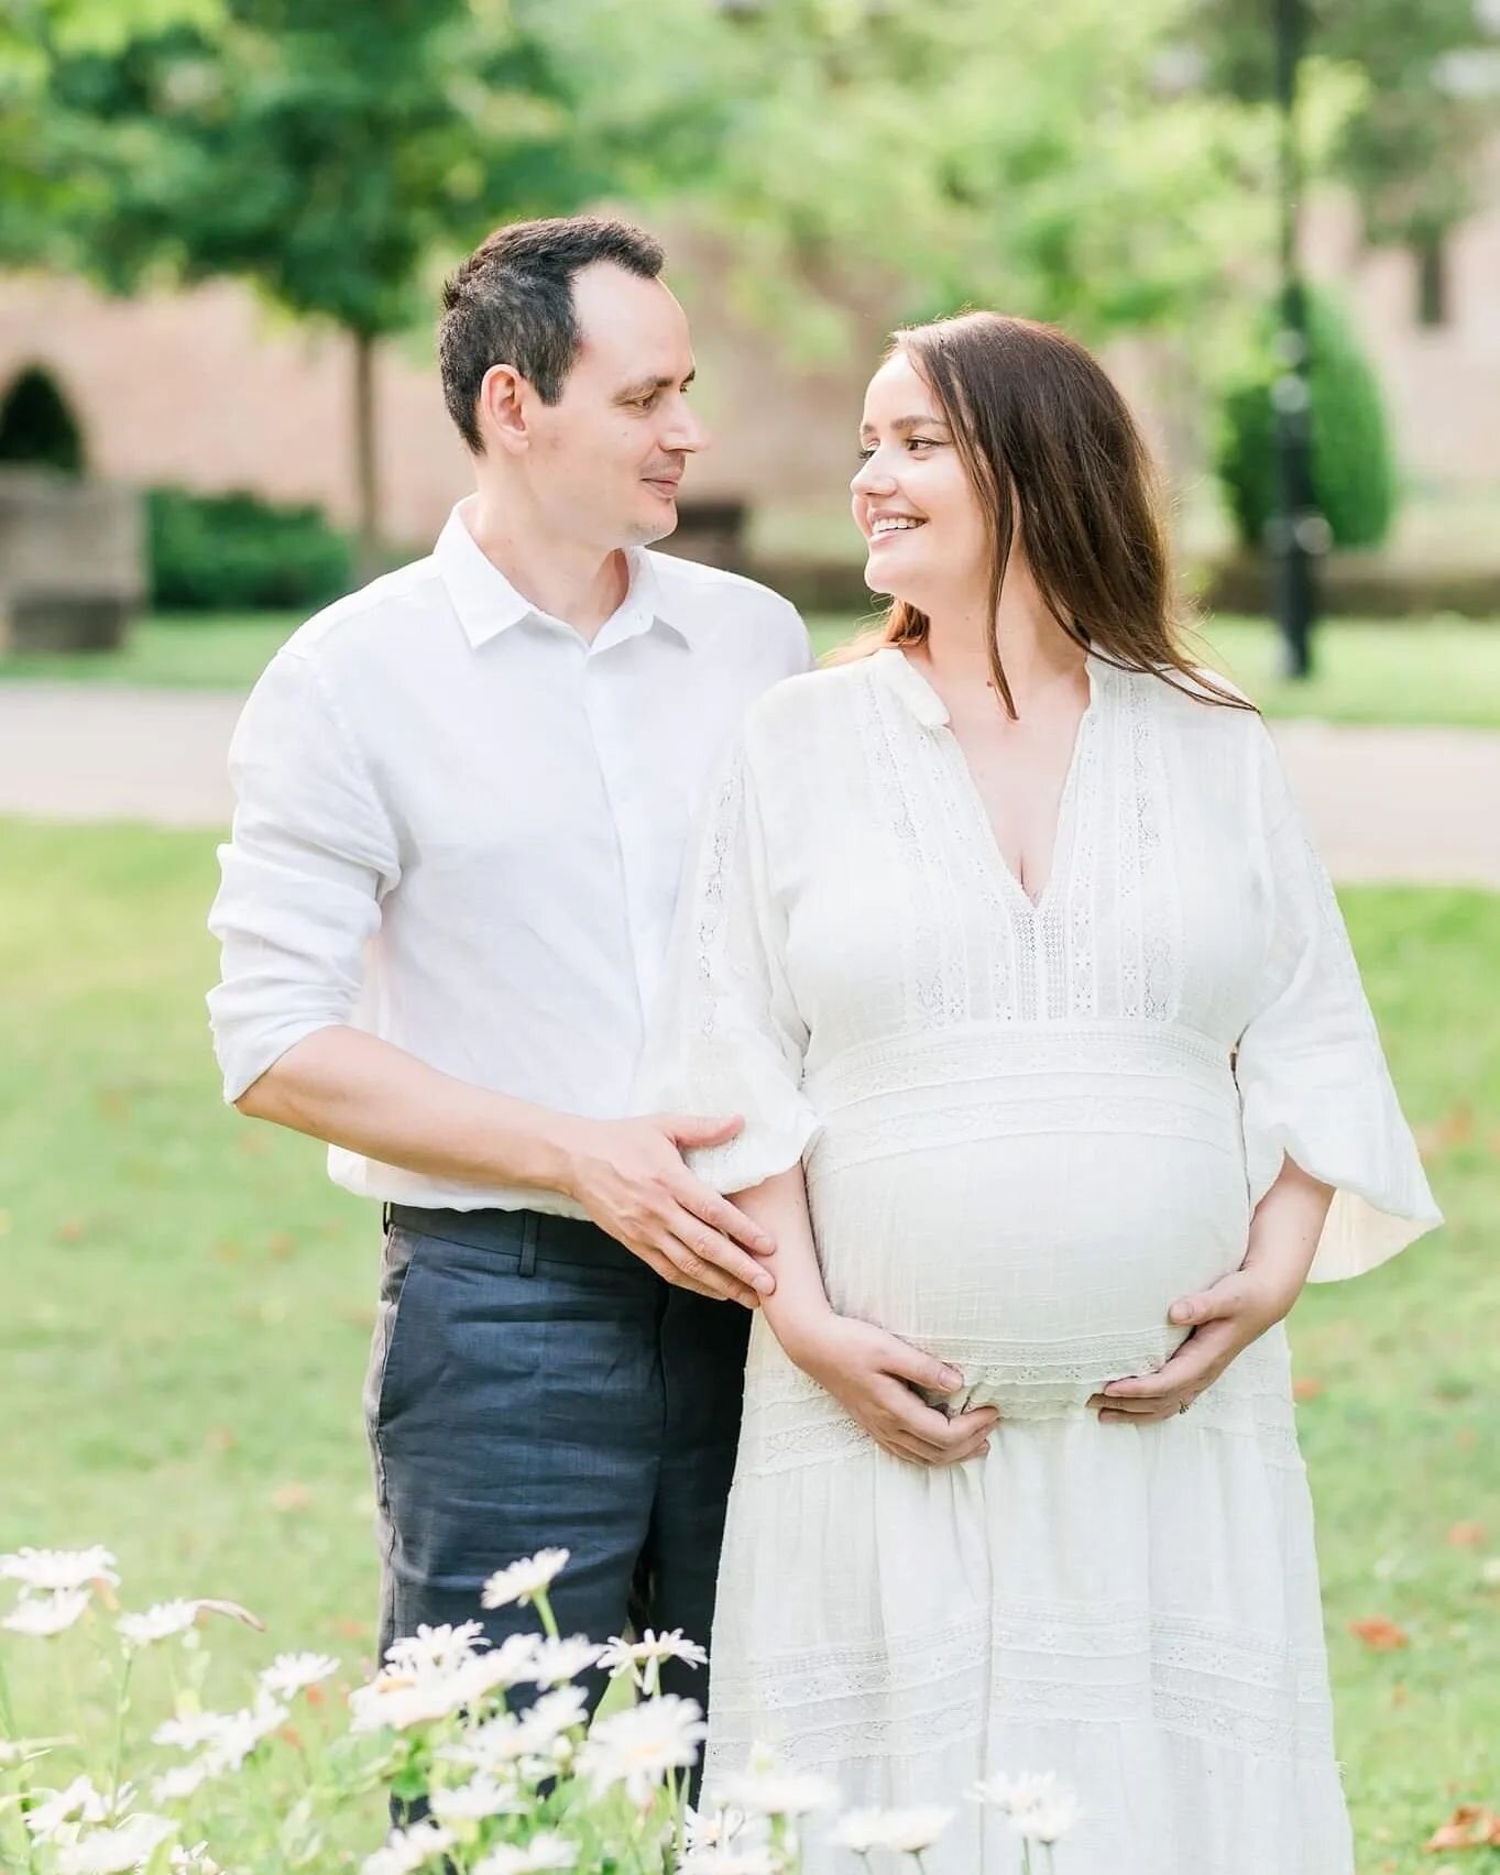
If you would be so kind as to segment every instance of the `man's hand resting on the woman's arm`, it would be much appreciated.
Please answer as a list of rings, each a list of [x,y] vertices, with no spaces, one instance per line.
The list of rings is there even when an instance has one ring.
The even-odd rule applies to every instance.
[[[578,1121],[566,1140],[562,1189],[589,1217],[679,1288],[759,1307],[776,1279],[758,1262],[776,1245],[728,1198],[682,1164],[692,1146],[722,1146],[742,1121],[652,1114]]]

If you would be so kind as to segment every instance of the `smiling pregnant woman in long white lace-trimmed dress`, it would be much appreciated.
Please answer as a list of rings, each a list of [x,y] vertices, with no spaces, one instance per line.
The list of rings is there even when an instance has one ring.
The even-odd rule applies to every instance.
[[[778,1239],[709,1791],[765,1738],[1011,1875],[964,1792],[1052,1770],[1059,1875],[1350,1875],[1279,1324],[1438,1213],[1333,892],[1080,347],[898,334],[862,442],[891,613],[750,711],[643,1089],[744,1116],[694,1166]]]

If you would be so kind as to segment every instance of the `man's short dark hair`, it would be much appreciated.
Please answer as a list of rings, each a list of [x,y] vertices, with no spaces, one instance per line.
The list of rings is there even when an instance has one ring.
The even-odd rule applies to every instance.
[[[474,407],[493,364],[519,371],[542,403],[562,396],[581,343],[574,274],[596,261],[656,279],[666,255],[628,221],[559,216],[495,229],[444,281],[437,328],[442,399],[476,456],[484,439]]]

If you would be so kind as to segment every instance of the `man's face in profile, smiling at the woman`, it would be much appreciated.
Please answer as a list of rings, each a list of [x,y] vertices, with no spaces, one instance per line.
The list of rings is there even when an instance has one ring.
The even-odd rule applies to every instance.
[[[531,480],[562,534],[604,549],[677,527],[677,486],[709,437],[688,407],[688,321],[658,279],[596,262],[574,276],[581,345],[559,403],[529,399]]]

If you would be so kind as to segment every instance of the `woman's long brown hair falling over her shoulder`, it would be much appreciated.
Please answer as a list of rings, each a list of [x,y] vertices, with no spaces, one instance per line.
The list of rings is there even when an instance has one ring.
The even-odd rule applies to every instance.
[[[1183,649],[1151,458],[1104,369],[1056,326],[958,313],[894,332],[941,405],[990,534],[990,617],[1016,532],[1058,624],[1127,671],[1148,671],[1204,703],[1254,709]],[[928,619],[892,600],[844,656],[921,645]],[[990,634],[990,673],[1016,705]]]

